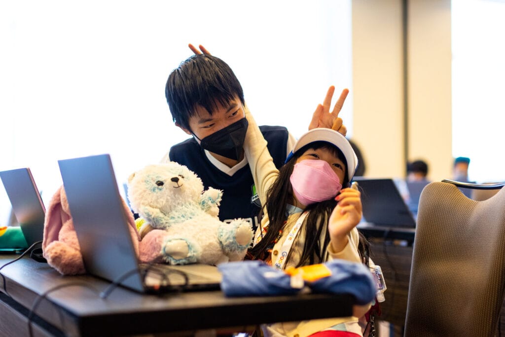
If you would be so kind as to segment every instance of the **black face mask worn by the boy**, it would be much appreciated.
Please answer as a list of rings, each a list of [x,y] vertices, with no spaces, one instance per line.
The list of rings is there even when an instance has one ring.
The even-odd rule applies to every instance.
[[[242,154],[248,125],[249,123],[244,117],[203,139],[198,138],[194,133],[193,135],[200,141],[200,146],[205,150],[226,158],[238,160]]]

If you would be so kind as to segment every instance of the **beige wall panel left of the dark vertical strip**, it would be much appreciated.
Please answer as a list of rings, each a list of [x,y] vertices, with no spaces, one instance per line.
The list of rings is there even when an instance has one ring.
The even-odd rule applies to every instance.
[[[403,176],[403,56],[400,0],[352,2],[353,138],[366,176]]]

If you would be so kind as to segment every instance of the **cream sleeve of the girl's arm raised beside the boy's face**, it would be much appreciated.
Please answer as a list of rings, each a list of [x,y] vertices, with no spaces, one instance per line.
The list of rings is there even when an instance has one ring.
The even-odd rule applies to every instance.
[[[279,176],[272,156],[267,149],[267,141],[247,107],[244,107],[245,118],[249,126],[244,141],[244,152],[256,185],[256,190],[262,205],[265,205],[267,191]]]

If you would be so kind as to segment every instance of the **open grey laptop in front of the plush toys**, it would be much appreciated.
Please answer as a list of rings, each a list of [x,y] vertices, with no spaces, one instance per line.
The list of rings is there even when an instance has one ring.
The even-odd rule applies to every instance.
[[[118,283],[141,293],[219,289],[221,273],[216,266],[155,264],[148,269],[139,263],[108,154],[58,164],[90,274],[113,282],[121,279]]]

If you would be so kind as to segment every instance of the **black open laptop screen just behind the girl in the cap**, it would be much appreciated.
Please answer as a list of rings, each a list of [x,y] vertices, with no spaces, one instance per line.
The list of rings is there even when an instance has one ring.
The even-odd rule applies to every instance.
[[[355,177],[361,191],[366,222],[384,227],[416,227],[414,216],[392,179]]]

